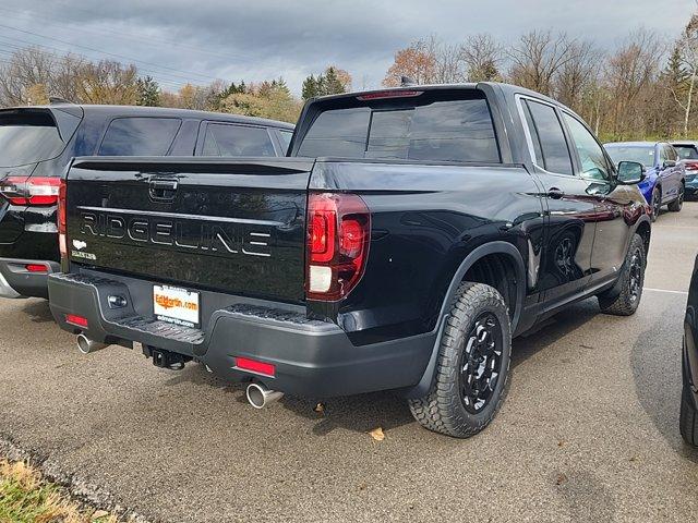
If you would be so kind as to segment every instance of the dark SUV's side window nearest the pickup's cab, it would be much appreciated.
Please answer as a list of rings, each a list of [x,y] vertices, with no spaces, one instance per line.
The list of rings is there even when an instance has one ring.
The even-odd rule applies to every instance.
[[[264,127],[209,123],[202,156],[276,156],[276,151]]]

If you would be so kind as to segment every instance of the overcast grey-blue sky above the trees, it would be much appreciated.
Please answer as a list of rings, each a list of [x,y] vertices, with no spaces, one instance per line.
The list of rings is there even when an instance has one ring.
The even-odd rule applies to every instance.
[[[675,38],[695,0],[0,0],[0,60],[40,45],[93,60],[133,62],[166,89],[215,78],[303,78],[334,63],[354,88],[376,87],[397,49],[437,35],[566,31],[612,49],[640,26]],[[21,29],[21,31],[17,31]]]

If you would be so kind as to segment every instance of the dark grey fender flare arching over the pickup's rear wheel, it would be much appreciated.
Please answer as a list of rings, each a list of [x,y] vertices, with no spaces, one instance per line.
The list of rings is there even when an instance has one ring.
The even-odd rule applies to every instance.
[[[436,360],[438,357],[438,348],[441,345],[441,338],[446,325],[446,318],[448,317],[448,308],[453,300],[456,296],[456,291],[460,285],[462,278],[468,272],[468,269],[472,267],[476,262],[488,256],[490,254],[505,254],[508,255],[514,262],[516,268],[516,305],[514,308],[514,316],[512,317],[512,332],[516,331],[516,326],[519,323],[521,311],[524,309],[524,299],[526,297],[527,278],[526,266],[524,265],[524,258],[521,253],[512,243],[504,241],[495,241],[485,243],[476,247],[466,258],[460,263],[460,266],[454,273],[450,284],[446,291],[444,300],[441,305],[438,314],[438,321],[436,323],[436,339],[432,349],[432,354],[426,364],[426,368],[422,374],[422,378],[419,382],[409,389],[406,389],[404,396],[406,398],[421,398],[429,392],[436,373]]]

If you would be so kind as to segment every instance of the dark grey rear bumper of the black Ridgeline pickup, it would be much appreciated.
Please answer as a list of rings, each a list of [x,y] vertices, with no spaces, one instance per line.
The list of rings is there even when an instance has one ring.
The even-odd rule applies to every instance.
[[[143,303],[152,300],[152,282],[111,276],[52,275],[49,293],[51,313],[65,330],[83,331],[99,342],[127,346],[139,342],[176,352],[206,364],[231,381],[255,379],[270,389],[302,397],[411,387],[421,379],[435,340],[435,333],[428,333],[353,345],[337,325],[308,319],[304,307],[236,296],[229,296],[228,306],[214,309],[201,330],[177,327],[154,319],[152,304]],[[108,296],[113,294],[123,295],[128,305],[109,308]],[[141,296],[135,307],[134,296]],[[202,309],[205,302],[219,296],[202,292]],[[151,314],[143,314],[148,306]],[[67,314],[87,318],[88,327],[68,324]],[[275,376],[238,369],[239,356],[274,364]]]

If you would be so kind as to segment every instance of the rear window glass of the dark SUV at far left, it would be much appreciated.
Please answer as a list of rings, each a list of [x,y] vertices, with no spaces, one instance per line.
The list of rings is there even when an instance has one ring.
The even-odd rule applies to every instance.
[[[0,114],[0,167],[55,158],[64,145],[49,114]]]

